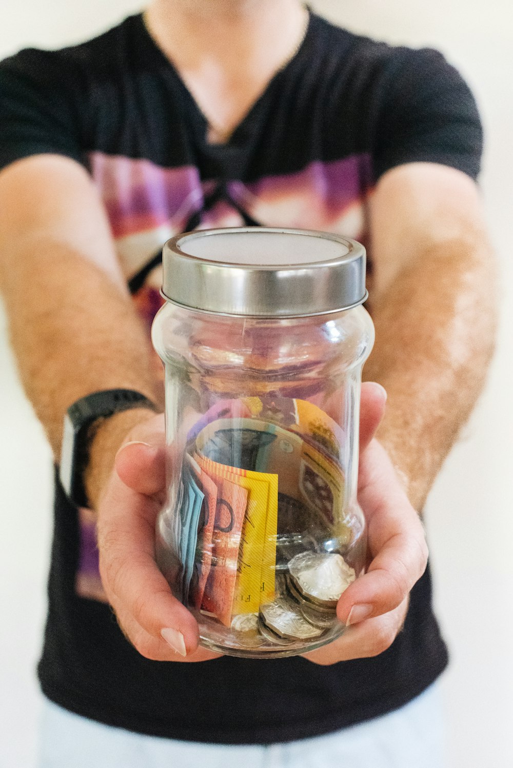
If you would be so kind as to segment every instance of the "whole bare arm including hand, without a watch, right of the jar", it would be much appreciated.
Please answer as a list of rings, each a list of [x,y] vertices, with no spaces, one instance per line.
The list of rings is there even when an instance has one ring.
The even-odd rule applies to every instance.
[[[359,502],[372,562],[337,606],[351,626],[307,654],[317,664],[379,654],[402,627],[427,556],[412,507],[422,508],[482,389],[495,335],[495,260],[470,178],[433,164],[390,170],[372,200],[372,240],[376,345],[364,377],[388,391],[378,437],[412,506],[371,443],[360,458]]]

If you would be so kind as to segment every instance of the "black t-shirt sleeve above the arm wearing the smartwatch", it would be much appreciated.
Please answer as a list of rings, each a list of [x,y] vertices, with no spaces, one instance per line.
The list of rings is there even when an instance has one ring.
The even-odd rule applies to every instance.
[[[41,153],[83,162],[78,85],[55,51],[26,49],[0,62],[0,168]]]

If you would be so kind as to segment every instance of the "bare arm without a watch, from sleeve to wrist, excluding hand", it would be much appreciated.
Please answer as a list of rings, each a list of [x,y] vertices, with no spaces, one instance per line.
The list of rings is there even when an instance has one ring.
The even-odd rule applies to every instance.
[[[372,200],[364,369],[389,394],[378,437],[422,508],[485,382],[496,323],[495,258],[474,182],[458,170],[390,170]]]

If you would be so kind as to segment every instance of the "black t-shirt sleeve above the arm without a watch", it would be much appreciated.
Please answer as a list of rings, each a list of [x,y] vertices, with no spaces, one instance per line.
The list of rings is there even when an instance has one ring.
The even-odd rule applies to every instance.
[[[375,180],[413,162],[448,165],[476,179],[482,125],[468,85],[439,51],[402,52],[387,73],[376,123]]]

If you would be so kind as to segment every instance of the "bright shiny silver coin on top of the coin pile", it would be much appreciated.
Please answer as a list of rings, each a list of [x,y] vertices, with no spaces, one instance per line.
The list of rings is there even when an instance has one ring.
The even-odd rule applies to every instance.
[[[306,600],[332,608],[356,578],[354,568],[335,552],[296,554],[289,562],[289,573]]]

